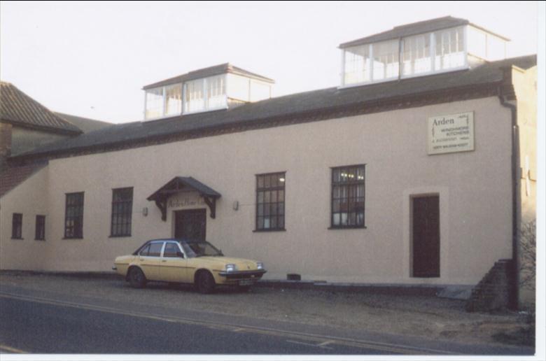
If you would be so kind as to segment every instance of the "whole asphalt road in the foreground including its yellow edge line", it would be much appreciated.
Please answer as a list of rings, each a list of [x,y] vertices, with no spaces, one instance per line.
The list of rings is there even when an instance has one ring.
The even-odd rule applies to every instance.
[[[3,285],[0,353],[529,355],[532,350],[60,298]]]

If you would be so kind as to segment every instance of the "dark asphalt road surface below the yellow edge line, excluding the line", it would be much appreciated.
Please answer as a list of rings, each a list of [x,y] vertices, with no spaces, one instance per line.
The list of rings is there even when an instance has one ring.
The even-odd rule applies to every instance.
[[[0,347],[25,353],[396,354],[10,297],[0,297],[0,310]]]

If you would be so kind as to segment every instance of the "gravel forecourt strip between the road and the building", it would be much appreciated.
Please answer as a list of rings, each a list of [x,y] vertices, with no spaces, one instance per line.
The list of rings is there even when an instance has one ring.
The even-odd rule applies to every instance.
[[[0,290],[2,285],[114,302],[130,300],[136,304],[155,304],[188,311],[411,334],[439,341],[496,344],[494,334],[510,334],[526,326],[526,316],[521,313],[468,313],[464,309],[464,301],[429,296],[263,286],[254,287],[248,292],[227,288],[212,295],[201,295],[186,285],[149,283],[146,288],[137,290],[130,288],[122,278],[80,278],[18,272],[1,273]]]

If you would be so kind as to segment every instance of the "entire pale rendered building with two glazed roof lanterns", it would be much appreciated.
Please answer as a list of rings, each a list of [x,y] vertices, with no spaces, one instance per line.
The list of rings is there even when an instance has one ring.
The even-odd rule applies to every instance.
[[[536,57],[506,41],[442,17],[340,45],[337,87],[274,98],[231,64],[148,85],[143,121],[10,157],[47,164],[0,198],[0,268],[191,236],[266,278],[476,285],[535,212]]]

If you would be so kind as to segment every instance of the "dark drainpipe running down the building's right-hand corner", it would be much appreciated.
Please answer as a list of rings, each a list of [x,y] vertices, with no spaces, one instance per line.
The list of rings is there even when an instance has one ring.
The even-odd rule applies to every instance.
[[[511,295],[512,299],[510,299],[510,309],[517,310],[519,308],[519,258],[517,243],[519,127],[517,125],[517,106],[507,101],[505,94],[503,94],[502,86],[498,87],[498,99],[500,100],[500,105],[509,108],[512,113],[512,267],[514,272],[514,292]]]

